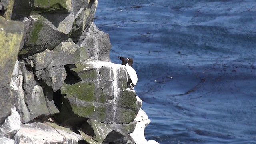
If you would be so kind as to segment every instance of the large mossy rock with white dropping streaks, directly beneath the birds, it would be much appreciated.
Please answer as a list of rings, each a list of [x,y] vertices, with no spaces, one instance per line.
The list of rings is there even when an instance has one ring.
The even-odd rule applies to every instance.
[[[77,67],[76,67],[77,66]],[[67,76],[62,85],[62,106],[56,116],[60,123],[71,123],[79,117],[104,123],[128,124],[140,107],[136,93],[127,89],[125,66],[102,61],[84,61],[72,69],[82,81]],[[83,69],[84,68],[84,69]]]

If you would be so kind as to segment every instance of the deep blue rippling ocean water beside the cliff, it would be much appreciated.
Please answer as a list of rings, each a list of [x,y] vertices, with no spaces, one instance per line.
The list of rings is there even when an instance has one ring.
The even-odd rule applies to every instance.
[[[256,144],[256,0],[99,0],[160,144]]]

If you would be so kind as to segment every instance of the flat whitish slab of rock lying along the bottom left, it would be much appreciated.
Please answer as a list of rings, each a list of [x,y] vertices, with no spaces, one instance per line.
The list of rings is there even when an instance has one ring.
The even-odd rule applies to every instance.
[[[53,122],[21,124],[21,129],[14,136],[16,143],[29,144],[77,144],[82,136],[69,128]]]

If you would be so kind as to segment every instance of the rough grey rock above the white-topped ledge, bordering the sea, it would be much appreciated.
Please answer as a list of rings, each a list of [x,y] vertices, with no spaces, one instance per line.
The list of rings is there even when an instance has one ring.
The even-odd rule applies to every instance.
[[[90,26],[89,33],[80,37],[78,44],[87,49],[90,58],[110,62],[111,44],[109,36],[107,33],[100,31],[94,23]]]

